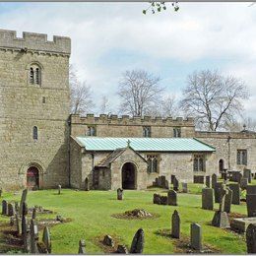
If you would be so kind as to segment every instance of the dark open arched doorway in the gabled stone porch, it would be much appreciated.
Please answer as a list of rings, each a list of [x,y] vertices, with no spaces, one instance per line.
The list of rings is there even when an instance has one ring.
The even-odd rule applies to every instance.
[[[135,189],[136,166],[132,162],[126,162],[122,167],[122,188]]]

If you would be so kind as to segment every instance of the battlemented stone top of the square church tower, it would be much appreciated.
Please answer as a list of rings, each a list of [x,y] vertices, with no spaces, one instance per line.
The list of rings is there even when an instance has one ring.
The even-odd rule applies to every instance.
[[[35,32],[23,32],[23,37],[17,37],[15,31],[0,30],[0,48],[70,55],[71,39],[53,35],[53,41],[49,41],[47,34]]]

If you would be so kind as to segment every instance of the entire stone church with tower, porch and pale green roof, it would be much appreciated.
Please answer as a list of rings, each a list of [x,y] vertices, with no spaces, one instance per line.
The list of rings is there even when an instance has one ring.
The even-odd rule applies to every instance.
[[[146,189],[256,167],[256,133],[196,131],[191,117],[70,115],[69,37],[0,30],[0,187]]]

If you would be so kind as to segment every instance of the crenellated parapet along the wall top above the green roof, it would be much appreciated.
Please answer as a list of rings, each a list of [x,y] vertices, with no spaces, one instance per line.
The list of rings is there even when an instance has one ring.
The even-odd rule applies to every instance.
[[[159,125],[159,126],[178,126],[178,127],[194,127],[193,117],[165,117],[160,116],[118,116],[115,114],[87,114],[86,116],[80,116],[79,114],[71,115],[71,124],[117,124],[117,125]]]

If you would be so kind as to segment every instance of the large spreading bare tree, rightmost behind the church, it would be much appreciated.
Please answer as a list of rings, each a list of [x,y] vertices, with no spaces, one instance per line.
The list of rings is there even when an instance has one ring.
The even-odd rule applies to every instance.
[[[217,131],[241,113],[246,98],[248,91],[240,79],[204,70],[188,76],[180,105],[187,115],[195,116],[200,129]]]

